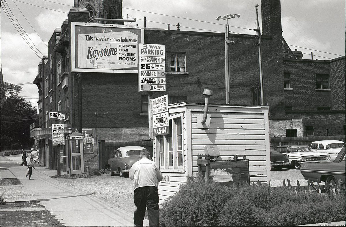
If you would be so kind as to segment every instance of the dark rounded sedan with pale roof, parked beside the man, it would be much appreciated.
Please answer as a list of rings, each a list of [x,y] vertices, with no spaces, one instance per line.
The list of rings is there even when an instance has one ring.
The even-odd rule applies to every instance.
[[[118,172],[120,177],[125,177],[132,165],[140,160],[140,151],[143,149],[143,146],[122,146],[113,151],[107,165],[110,175],[114,176],[115,172]]]

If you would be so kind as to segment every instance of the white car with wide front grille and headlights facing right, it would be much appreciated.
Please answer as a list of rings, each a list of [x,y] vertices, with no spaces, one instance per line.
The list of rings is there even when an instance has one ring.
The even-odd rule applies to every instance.
[[[313,152],[308,145],[282,145],[276,146],[275,149],[288,155],[289,165],[294,169],[300,169],[300,165],[305,162],[330,162],[330,154]]]

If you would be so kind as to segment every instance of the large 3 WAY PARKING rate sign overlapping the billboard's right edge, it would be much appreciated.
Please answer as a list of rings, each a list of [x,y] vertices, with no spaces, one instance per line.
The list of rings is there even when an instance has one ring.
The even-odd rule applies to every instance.
[[[138,91],[166,91],[165,45],[139,44]]]

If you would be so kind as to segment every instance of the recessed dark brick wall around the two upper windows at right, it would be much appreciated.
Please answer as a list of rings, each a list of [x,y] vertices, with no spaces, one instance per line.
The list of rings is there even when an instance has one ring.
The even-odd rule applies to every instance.
[[[316,90],[316,74],[329,74],[329,61],[284,60],[283,72],[291,73],[293,88],[284,90],[285,106],[292,106],[293,110],[317,110],[317,106],[331,106],[331,91]]]

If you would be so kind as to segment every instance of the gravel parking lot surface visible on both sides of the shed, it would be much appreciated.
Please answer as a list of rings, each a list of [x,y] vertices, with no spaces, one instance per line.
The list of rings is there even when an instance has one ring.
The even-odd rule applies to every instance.
[[[307,181],[304,180],[300,170],[283,168],[277,171],[272,169],[271,176],[271,186],[283,186],[283,179],[286,180],[286,183],[287,179],[289,179],[292,186],[297,185],[297,180],[299,180],[300,185],[307,185]],[[105,174],[94,178],[57,178],[57,180],[87,194],[94,193],[94,196],[129,212],[136,210],[136,206],[133,202],[133,181],[128,177],[121,178],[119,176]]]

